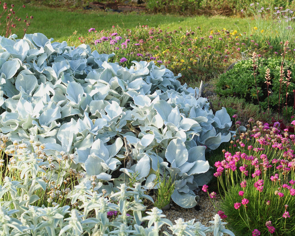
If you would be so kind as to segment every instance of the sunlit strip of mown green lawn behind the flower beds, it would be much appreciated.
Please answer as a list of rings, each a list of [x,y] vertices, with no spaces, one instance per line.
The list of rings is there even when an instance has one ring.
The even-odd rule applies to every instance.
[[[22,1],[9,1],[8,5],[14,3],[15,10],[22,6]],[[22,19],[25,15],[33,15],[31,25],[27,33],[40,32],[54,41],[67,40],[73,32],[77,35],[86,35],[88,29],[95,28],[97,31],[111,29],[113,25],[119,25],[121,28],[134,29],[138,25],[148,25],[149,27],[161,26],[161,29],[174,30],[182,27],[195,30],[200,26],[204,30],[217,30],[225,28],[227,30],[248,31],[246,19],[225,17],[225,16],[178,16],[163,14],[144,14],[144,13],[124,13],[124,12],[105,12],[101,10],[83,10],[75,11],[64,10],[64,8],[49,8],[30,2],[25,4],[25,8],[20,8],[16,13]],[[22,35],[22,29],[16,32]]]

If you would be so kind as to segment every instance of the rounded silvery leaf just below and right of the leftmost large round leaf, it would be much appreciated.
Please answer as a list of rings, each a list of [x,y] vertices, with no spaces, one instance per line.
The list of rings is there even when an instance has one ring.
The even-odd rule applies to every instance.
[[[16,78],[15,88],[26,94],[32,95],[33,91],[38,87],[37,78],[29,70],[23,70]]]

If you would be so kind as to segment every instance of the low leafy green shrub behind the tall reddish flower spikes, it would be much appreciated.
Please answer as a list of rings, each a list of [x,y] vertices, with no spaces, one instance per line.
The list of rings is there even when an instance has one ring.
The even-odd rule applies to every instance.
[[[254,67],[256,68],[255,77],[253,75]],[[270,69],[269,86],[267,86],[265,78],[267,68]],[[236,96],[253,104],[260,102],[262,110],[265,111],[269,107],[277,111],[279,106],[281,107],[280,111],[282,111],[282,107],[287,103],[288,116],[290,117],[293,112],[295,84],[294,79],[288,76],[288,70],[295,71],[294,62],[259,57],[257,63],[253,65],[253,59],[242,60],[236,63],[233,69],[219,76],[215,92],[221,97]]]

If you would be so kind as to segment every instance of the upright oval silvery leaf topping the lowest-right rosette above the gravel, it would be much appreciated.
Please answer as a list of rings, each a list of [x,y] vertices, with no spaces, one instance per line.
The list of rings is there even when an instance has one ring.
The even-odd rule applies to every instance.
[[[173,139],[165,151],[166,159],[171,167],[180,167],[188,160],[188,150],[180,139]]]

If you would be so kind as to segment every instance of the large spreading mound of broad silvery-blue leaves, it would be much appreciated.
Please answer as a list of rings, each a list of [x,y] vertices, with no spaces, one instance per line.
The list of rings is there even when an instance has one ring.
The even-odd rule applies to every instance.
[[[126,68],[108,62],[114,54],[51,41],[41,33],[0,39],[0,131],[11,146],[45,144],[57,165],[61,152],[71,154],[66,168],[96,176],[99,193],[115,194],[131,175],[145,189],[157,188],[160,168],[175,180],[173,201],[195,206],[193,190],[209,181],[205,150],[231,137],[225,108],[214,115],[205,98],[195,98],[198,89],[182,86],[181,75],[164,65],[134,61]],[[122,174],[113,178],[116,171]],[[94,224],[76,210],[72,217]]]

